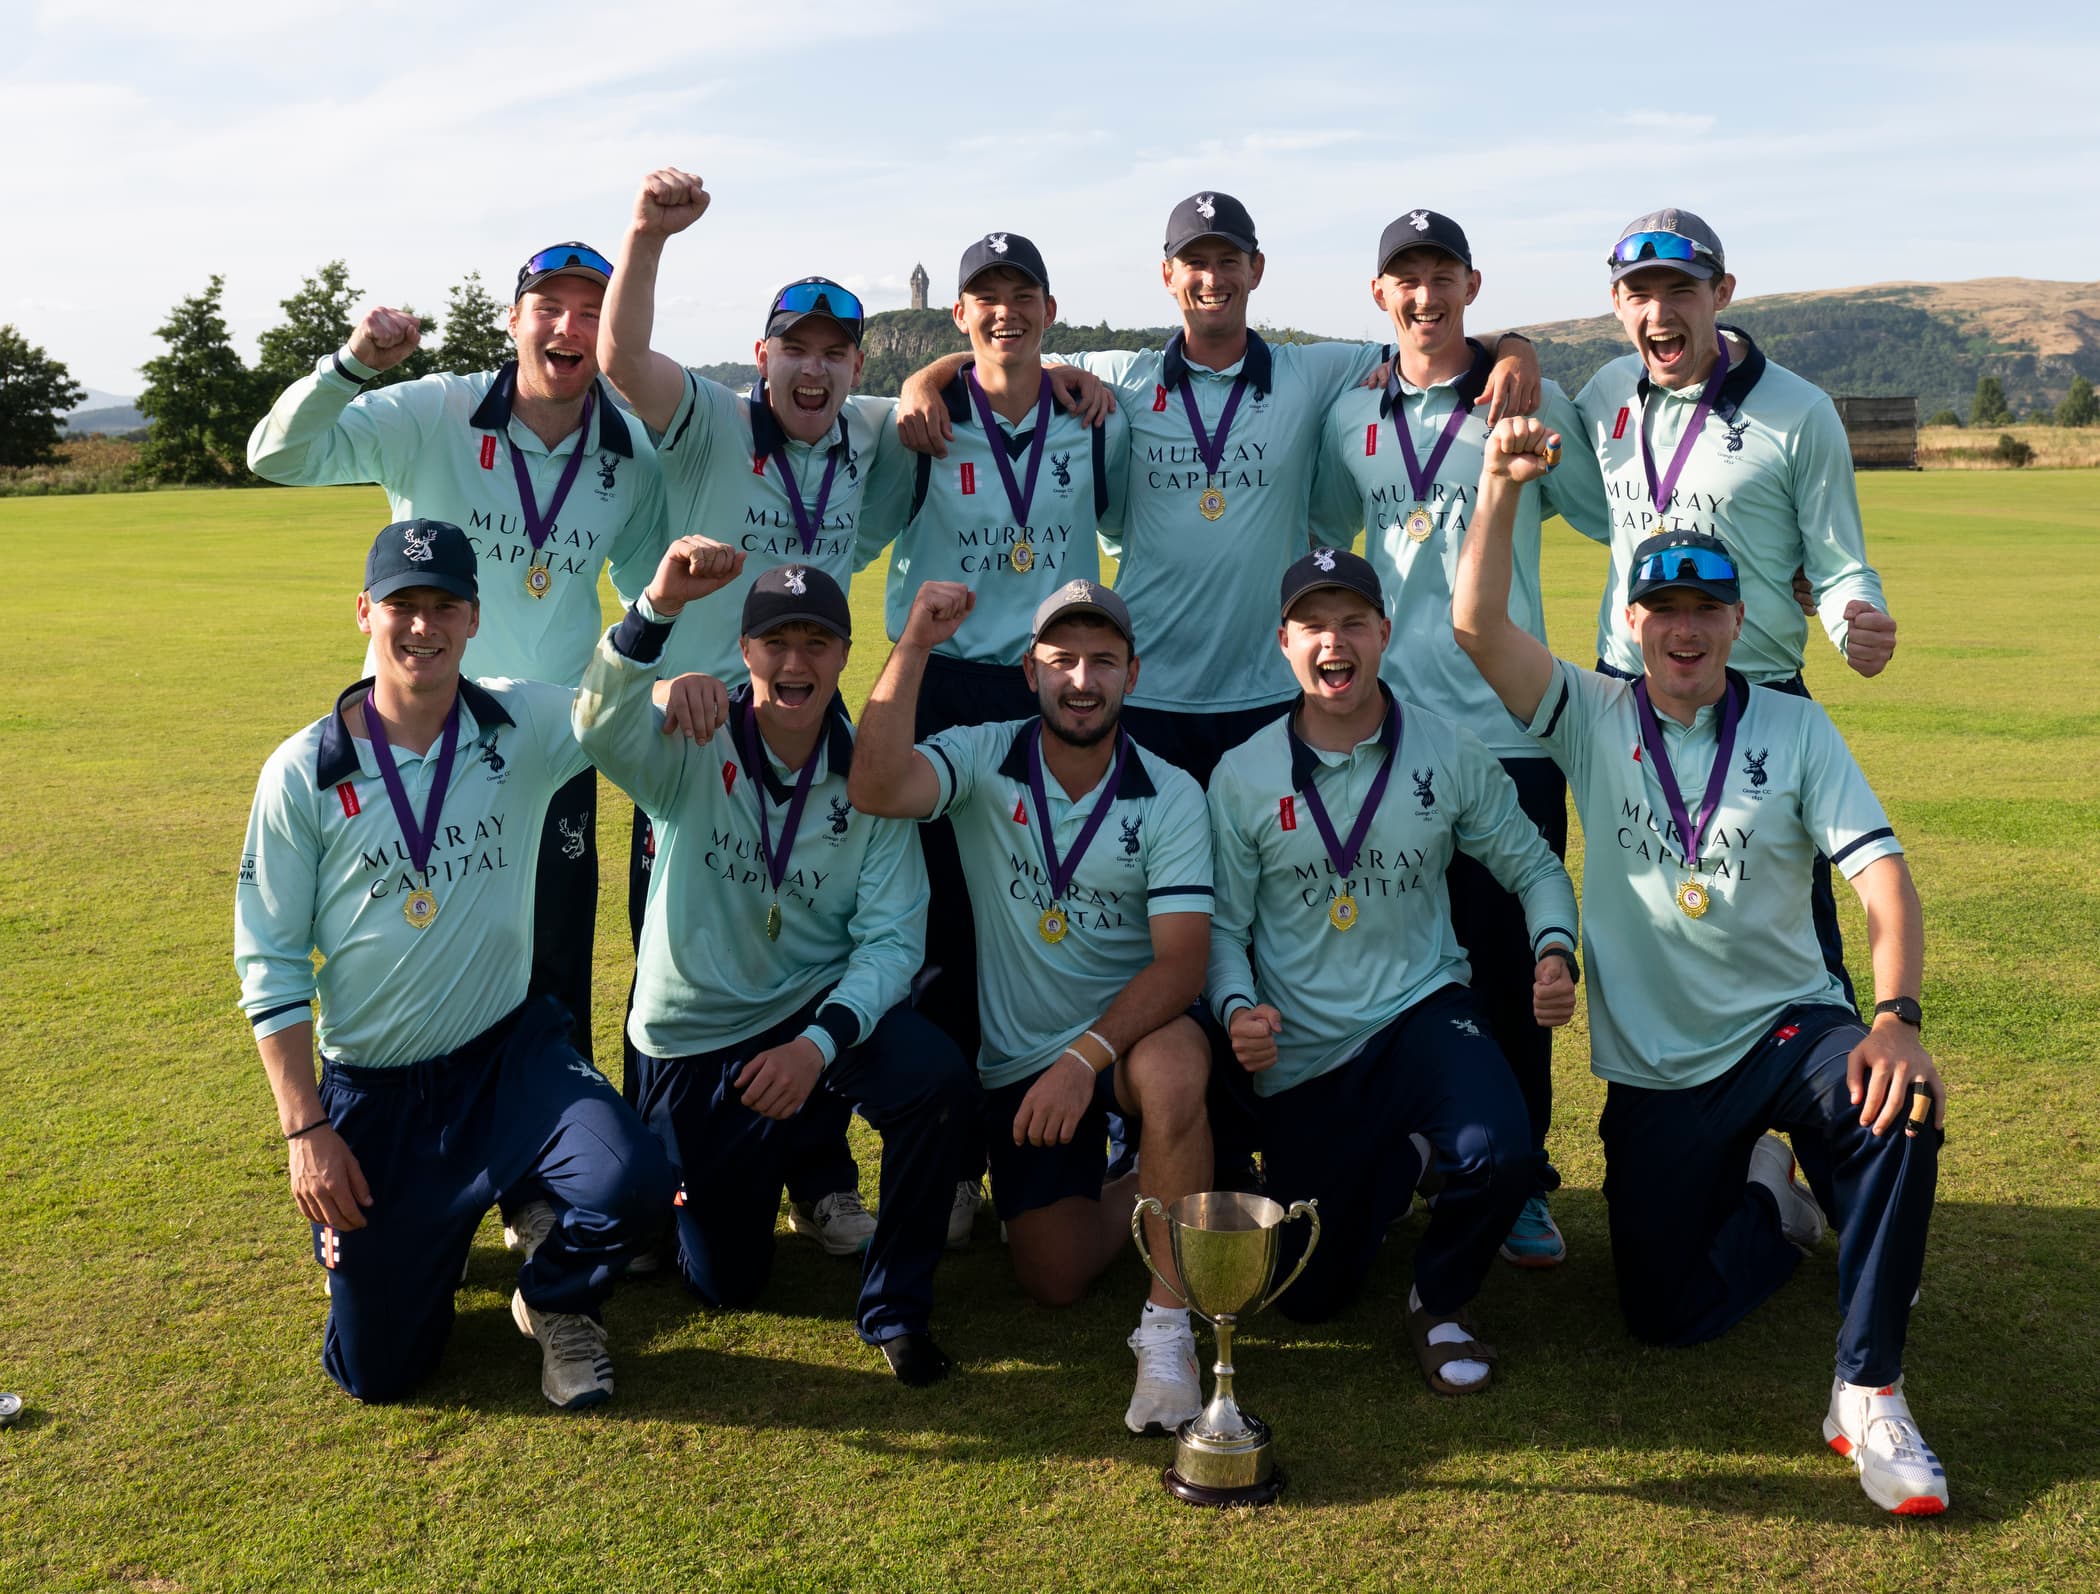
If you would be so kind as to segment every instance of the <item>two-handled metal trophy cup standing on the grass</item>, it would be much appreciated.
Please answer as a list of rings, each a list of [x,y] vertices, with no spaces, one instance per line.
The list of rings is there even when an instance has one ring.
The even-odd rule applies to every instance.
[[[1153,1266],[1144,1243],[1147,1212],[1168,1226],[1180,1289]],[[1268,1289],[1268,1281],[1277,1277],[1277,1239],[1283,1224],[1298,1216],[1312,1220],[1304,1256],[1289,1279]],[[1161,1483],[1191,1506],[1266,1506],[1283,1493],[1283,1474],[1270,1451],[1268,1424],[1241,1411],[1233,1399],[1233,1329],[1243,1313],[1252,1317],[1266,1308],[1306,1271],[1319,1245],[1319,1201],[1294,1201],[1285,1212],[1264,1195],[1203,1191],[1184,1195],[1170,1208],[1157,1195],[1147,1195],[1130,1212],[1130,1237],[1138,1241],[1138,1256],[1151,1275],[1218,1329],[1210,1405],[1174,1430],[1174,1466],[1161,1474]],[[1250,1300],[1256,1304],[1247,1306]]]

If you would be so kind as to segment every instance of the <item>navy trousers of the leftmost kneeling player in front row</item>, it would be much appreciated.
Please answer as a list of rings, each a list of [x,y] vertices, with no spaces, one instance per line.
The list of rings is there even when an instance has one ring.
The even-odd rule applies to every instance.
[[[359,1401],[401,1399],[437,1365],[466,1250],[502,1191],[529,1180],[559,1214],[519,1268],[538,1310],[596,1317],[664,1224],[664,1149],[578,1056],[552,998],[426,1063],[323,1061],[321,1107],[372,1189],[363,1229],[313,1224],[330,1271],[321,1365]]]

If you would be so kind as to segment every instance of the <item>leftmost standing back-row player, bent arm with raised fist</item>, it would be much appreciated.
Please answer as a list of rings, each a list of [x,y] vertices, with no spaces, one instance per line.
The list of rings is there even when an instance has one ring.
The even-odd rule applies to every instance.
[[[441,519],[466,531],[485,605],[462,668],[479,676],[575,687],[598,634],[598,571],[611,567],[613,586],[634,592],[664,550],[655,452],[598,380],[611,269],[586,244],[540,250],[519,267],[510,302],[514,361],[368,393],[420,338],[414,315],[374,309],[248,437],[248,466],[269,481],[376,481],[397,521]],[[569,1010],[586,1058],[596,802],[588,769],[554,796],[533,924],[533,991]]]

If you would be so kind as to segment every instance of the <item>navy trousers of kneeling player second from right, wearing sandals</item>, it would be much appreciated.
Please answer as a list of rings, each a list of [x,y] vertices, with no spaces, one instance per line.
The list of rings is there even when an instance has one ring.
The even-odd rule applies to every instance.
[[[1216,1031],[1212,1044],[1224,1044]],[[1277,1298],[1277,1310],[1300,1323],[1334,1317],[1363,1289],[1386,1229],[1422,1182],[1424,1153],[1445,1176],[1415,1247],[1415,1289],[1436,1315],[1478,1294],[1495,1247],[1539,1187],[1546,1153],[1531,1140],[1525,1098],[1464,985],[1432,991],[1354,1058],[1275,1096],[1254,1094],[1228,1044],[1212,1082],[1252,1115],[1264,1193],[1285,1205],[1319,1199],[1319,1250]],[[1214,1126],[1224,1113],[1218,1094]],[[1277,1277],[1298,1266],[1308,1229],[1285,1226]]]

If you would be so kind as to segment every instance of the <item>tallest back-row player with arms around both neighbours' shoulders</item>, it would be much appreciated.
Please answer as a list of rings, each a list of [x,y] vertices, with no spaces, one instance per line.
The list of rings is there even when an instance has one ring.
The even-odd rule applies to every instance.
[[[1126,481],[1107,546],[1117,590],[1147,617],[1144,691],[1130,731],[1199,783],[1226,748],[1283,714],[1289,670],[1268,605],[1306,550],[1312,466],[1327,405],[1384,361],[1378,344],[1270,344],[1247,326],[1266,260],[1231,193],[1191,193],[1168,216],[1159,277],[1180,309],[1163,351],[1065,353],[1111,386],[1130,424]],[[1491,416],[1529,407],[1537,359],[1522,338],[1497,368]],[[899,433],[939,454],[953,435],[934,361],[899,399]]]

